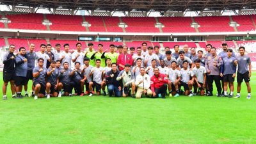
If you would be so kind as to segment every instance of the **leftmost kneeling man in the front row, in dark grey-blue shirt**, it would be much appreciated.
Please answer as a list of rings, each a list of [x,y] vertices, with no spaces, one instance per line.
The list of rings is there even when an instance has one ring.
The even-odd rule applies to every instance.
[[[38,66],[33,69],[33,85],[35,86],[35,97],[44,97],[45,95],[45,76],[47,68],[44,67],[44,59],[38,58]]]

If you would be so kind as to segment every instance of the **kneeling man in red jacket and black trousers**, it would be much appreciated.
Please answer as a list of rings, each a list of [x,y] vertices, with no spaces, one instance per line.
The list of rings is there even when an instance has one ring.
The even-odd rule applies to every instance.
[[[168,77],[164,74],[159,73],[159,68],[154,68],[154,76],[150,78],[151,90],[153,92],[153,97],[162,97],[165,99],[165,94],[167,90]]]

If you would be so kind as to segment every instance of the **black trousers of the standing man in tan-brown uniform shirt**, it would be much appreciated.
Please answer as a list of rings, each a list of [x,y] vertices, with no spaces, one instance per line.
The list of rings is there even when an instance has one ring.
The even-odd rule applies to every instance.
[[[207,76],[207,84],[209,92],[212,93],[212,83],[215,82],[218,93],[221,93],[221,84],[220,84],[220,76],[208,75]]]

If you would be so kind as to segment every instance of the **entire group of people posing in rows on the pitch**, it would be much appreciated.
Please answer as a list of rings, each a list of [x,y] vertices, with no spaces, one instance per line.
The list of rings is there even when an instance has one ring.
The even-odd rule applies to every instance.
[[[239,54],[222,44],[223,51],[216,53],[211,44],[206,45],[207,52],[196,52],[192,47],[179,45],[164,48],[148,46],[88,44],[88,50],[82,51],[82,44],[76,44],[76,51],[70,51],[69,45],[41,44],[40,51],[35,52],[35,44],[29,49],[20,47],[14,53],[15,45],[3,56],[3,99],[6,100],[6,87],[10,82],[12,98],[28,97],[28,81],[33,80],[31,95],[38,97],[72,97],[72,92],[84,95],[102,95],[109,97],[179,97],[179,95],[212,96],[213,81],[218,97],[234,97],[234,81],[237,76],[237,93],[240,97],[241,83],[246,83],[248,96],[251,98],[250,77],[252,65],[250,57],[244,54],[245,48],[239,47]],[[129,51],[128,51],[129,50]],[[136,52],[135,52],[136,51]],[[85,88],[84,88],[85,85]],[[25,95],[22,95],[22,86]],[[183,90],[182,90],[183,87]],[[229,93],[227,92],[229,87]],[[106,91],[106,89],[108,91]],[[108,92],[108,93],[107,93]]]

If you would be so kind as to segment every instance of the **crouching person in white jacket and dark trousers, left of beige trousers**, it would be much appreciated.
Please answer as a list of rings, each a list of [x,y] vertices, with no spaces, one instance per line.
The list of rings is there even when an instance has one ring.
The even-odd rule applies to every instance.
[[[134,73],[131,71],[131,65],[130,64],[125,64],[124,70],[122,70],[119,74],[118,77],[116,77],[117,81],[120,81],[122,79],[123,81],[123,97],[127,97],[129,94],[130,88],[132,88],[132,93],[131,97],[135,98],[134,92],[135,92],[135,83],[134,83]]]

